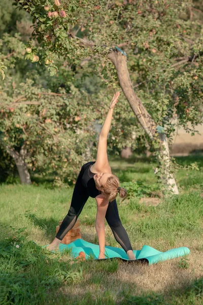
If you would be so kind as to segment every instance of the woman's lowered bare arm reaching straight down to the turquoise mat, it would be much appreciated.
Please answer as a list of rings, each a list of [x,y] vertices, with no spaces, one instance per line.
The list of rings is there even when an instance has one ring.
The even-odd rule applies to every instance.
[[[102,194],[96,196],[97,212],[95,228],[98,236],[99,244],[99,259],[105,258],[105,216],[109,201],[106,200]]]

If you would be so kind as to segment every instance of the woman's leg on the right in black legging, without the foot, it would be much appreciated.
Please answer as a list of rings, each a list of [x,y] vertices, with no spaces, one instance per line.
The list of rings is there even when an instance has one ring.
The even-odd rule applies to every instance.
[[[106,220],[112,229],[116,241],[121,245],[125,252],[127,253],[129,250],[132,251],[129,237],[119,218],[116,199],[112,202],[109,202],[109,206],[106,212]]]

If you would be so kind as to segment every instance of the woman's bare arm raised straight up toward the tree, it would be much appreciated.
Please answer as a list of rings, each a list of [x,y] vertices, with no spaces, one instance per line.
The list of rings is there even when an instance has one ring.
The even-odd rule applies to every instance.
[[[103,127],[101,128],[99,139],[98,139],[98,147],[97,147],[97,155],[96,155],[96,162],[93,165],[93,172],[103,172],[106,170],[106,172],[111,173],[111,168],[109,166],[108,156],[107,156],[107,137],[108,133],[110,131],[111,127],[111,121],[113,116],[113,110],[118,102],[118,97],[120,95],[120,92],[117,92],[109,106],[109,111],[107,114],[107,117],[105,119],[105,123]]]

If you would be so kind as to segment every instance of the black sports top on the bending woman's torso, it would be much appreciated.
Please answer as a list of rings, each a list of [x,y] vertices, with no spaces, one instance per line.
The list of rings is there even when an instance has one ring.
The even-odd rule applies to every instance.
[[[95,173],[92,173],[90,168],[95,163],[95,161],[90,161],[86,164],[84,164],[84,174],[82,176],[82,184],[87,189],[87,192],[90,197],[95,198],[98,196],[101,192],[96,189],[95,181],[93,176]]]

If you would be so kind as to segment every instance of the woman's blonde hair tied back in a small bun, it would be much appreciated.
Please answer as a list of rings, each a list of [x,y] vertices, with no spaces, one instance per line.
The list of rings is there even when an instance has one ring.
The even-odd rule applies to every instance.
[[[110,202],[116,199],[118,193],[123,200],[127,197],[127,190],[119,187],[120,182],[116,175],[112,174],[107,178],[106,184],[100,187],[101,192],[104,194],[105,198]],[[122,201],[123,201],[122,200]]]

